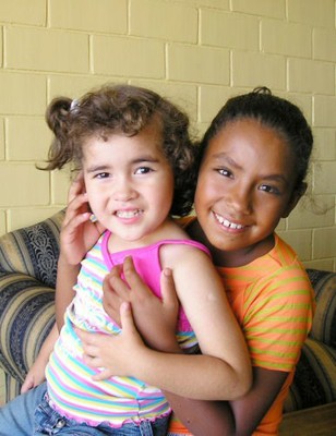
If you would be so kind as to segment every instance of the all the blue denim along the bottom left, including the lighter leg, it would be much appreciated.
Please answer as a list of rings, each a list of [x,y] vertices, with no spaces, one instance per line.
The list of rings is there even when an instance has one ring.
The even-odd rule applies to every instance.
[[[0,436],[166,436],[169,417],[112,428],[107,424],[91,427],[61,416],[44,399],[46,384],[15,398],[0,409]]]

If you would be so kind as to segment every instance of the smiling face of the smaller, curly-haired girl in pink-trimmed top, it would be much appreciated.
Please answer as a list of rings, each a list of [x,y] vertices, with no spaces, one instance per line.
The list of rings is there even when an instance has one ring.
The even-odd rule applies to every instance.
[[[173,173],[159,129],[148,125],[135,136],[112,134],[107,141],[94,136],[83,153],[84,181],[96,218],[117,242],[153,242],[173,196]]]

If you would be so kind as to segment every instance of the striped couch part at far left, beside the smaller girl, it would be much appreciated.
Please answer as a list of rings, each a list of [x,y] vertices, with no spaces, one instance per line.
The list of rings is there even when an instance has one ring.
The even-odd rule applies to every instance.
[[[61,210],[0,238],[0,366],[15,397],[55,320]]]

